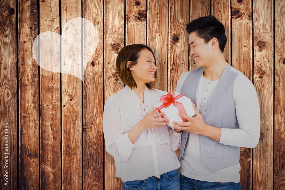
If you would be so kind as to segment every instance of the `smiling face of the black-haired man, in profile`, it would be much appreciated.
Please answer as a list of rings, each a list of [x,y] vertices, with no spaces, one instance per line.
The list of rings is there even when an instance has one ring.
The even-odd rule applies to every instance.
[[[204,67],[211,60],[212,44],[211,40],[205,44],[203,38],[197,36],[197,32],[191,32],[189,34],[190,55],[193,56],[197,68]]]

